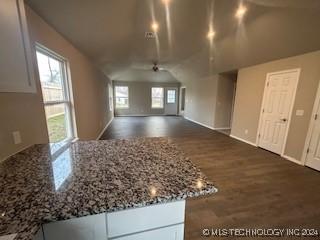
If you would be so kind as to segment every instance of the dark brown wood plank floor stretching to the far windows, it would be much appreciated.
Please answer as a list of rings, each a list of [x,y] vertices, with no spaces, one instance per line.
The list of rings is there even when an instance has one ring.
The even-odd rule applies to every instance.
[[[186,240],[205,238],[204,228],[320,230],[320,173],[310,168],[180,117],[118,117],[101,139],[158,136],[172,137],[219,189],[187,201]]]

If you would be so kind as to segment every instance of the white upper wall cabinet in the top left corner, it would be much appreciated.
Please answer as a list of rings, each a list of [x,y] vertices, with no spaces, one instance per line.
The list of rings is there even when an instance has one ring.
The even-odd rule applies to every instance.
[[[35,92],[23,0],[1,0],[0,33],[0,92]]]

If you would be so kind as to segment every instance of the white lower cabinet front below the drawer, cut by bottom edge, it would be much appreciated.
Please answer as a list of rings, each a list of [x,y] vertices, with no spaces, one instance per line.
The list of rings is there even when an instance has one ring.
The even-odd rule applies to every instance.
[[[183,240],[184,225],[179,224],[166,228],[155,229],[152,231],[137,233],[124,237],[116,238],[117,240]]]

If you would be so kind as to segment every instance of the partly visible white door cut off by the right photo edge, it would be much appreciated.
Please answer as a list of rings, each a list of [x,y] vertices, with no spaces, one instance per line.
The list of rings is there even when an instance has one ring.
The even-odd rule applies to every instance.
[[[320,90],[320,88],[319,88]],[[311,133],[309,146],[307,149],[306,165],[320,171],[320,91],[315,102],[313,120],[311,122]]]

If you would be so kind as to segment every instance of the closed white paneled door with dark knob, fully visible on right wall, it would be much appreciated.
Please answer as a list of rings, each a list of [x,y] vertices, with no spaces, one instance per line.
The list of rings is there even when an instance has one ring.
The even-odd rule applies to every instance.
[[[267,75],[259,147],[282,154],[300,70]]]

